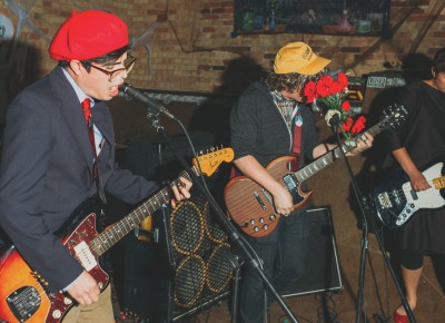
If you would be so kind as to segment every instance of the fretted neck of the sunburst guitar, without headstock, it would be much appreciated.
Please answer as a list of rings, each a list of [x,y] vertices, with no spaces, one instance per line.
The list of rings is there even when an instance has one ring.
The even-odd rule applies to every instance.
[[[195,167],[192,167],[192,170],[196,173]],[[187,172],[182,172],[180,176],[191,180]],[[178,185],[180,179],[178,178],[169,186],[174,187],[175,185]],[[160,189],[158,193],[134,209],[130,214],[125,216],[121,221],[97,235],[90,242],[90,248],[96,253],[97,256],[102,255],[128,233],[138,227],[144,218],[158,211],[164,204],[168,203],[172,197],[170,192],[171,190],[167,187]]]

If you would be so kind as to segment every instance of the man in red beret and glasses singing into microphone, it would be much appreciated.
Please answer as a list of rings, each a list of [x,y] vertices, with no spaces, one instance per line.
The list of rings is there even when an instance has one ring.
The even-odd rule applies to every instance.
[[[85,260],[83,253],[93,251],[85,249],[82,232],[76,229],[80,243],[69,246],[76,257],[58,233],[72,219],[75,209],[96,194],[102,202],[108,193],[137,204],[157,189],[154,182],[115,163],[115,133],[107,101],[118,95],[135,65],[128,50],[127,25],[120,18],[97,10],[73,12],[49,48],[58,67],[21,91],[8,108],[0,168],[0,225],[26,263],[44,280],[44,288],[70,297],[48,306],[47,296],[41,295],[39,302],[24,304],[36,309],[27,314],[16,311],[14,317],[2,320],[115,321],[110,287],[98,284],[95,258],[92,265]],[[181,187],[172,189],[172,206],[175,200],[190,196],[191,183],[182,182]],[[72,300],[79,305],[70,306]],[[0,309],[0,316],[6,312]]]

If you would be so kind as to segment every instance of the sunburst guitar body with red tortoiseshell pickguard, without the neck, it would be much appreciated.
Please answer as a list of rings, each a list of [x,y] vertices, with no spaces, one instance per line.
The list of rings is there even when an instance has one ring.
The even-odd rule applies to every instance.
[[[61,241],[103,291],[109,283],[109,276],[88,247],[91,239],[98,235],[97,219],[100,211],[88,214],[81,212],[91,205],[99,205],[95,197],[79,206],[59,233],[73,228]],[[46,287],[44,280],[28,266],[14,246],[2,251],[0,273],[1,321],[58,323],[68,310],[76,305],[68,293],[51,293]]]

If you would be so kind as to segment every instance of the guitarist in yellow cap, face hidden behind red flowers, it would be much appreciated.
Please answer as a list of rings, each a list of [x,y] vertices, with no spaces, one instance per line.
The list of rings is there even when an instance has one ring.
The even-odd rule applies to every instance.
[[[269,194],[275,213],[280,216],[276,228],[248,241],[263,263],[266,277],[278,293],[295,282],[305,270],[309,217],[307,207],[294,211],[289,190],[268,173],[266,166],[281,156],[299,155],[298,168],[335,148],[320,144],[310,107],[305,105],[304,85],[327,72],[329,59],[317,56],[304,42],[290,42],[276,55],[274,70],[256,81],[240,96],[230,114],[231,147],[236,170],[255,180]],[[372,146],[373,138],[359,140],[349,155]],[[260,195],[259,198],[267,198]],[[267,298],[267,300],[266,300]],[[259,273],[246,264],[239,295],[239,320],[263,323],[265,310],[274,301],[265,298]],[[236,313],[233,313],[236,315]]]

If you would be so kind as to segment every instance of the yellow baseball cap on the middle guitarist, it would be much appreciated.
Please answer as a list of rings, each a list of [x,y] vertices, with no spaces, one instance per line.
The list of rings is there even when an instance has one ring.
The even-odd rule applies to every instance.
[[[305,42],[289,42],[275,57],[274,71],[276,74],[314,75],[324,69],[330,61],[330,59],[315,55]]]

